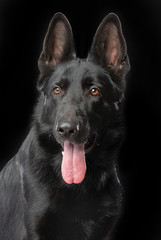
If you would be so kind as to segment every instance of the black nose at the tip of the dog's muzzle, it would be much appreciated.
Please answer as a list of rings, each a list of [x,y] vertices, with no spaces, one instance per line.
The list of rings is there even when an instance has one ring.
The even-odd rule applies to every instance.
[[[79,131],[79,124],[74,122],[60,122],[57,125],[56,130],[63,137],[70,137]]]

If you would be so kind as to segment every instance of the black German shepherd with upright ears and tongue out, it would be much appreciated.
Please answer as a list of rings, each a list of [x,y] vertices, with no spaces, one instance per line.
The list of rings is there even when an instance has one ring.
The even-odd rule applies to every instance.
[[[78,59],[70,24],[57,13],[39,69],[32,128],[0,175],[0,239],[109,239],[120,209],[116,159],[129,70],[118,17],[105,17],[87,59]]]

